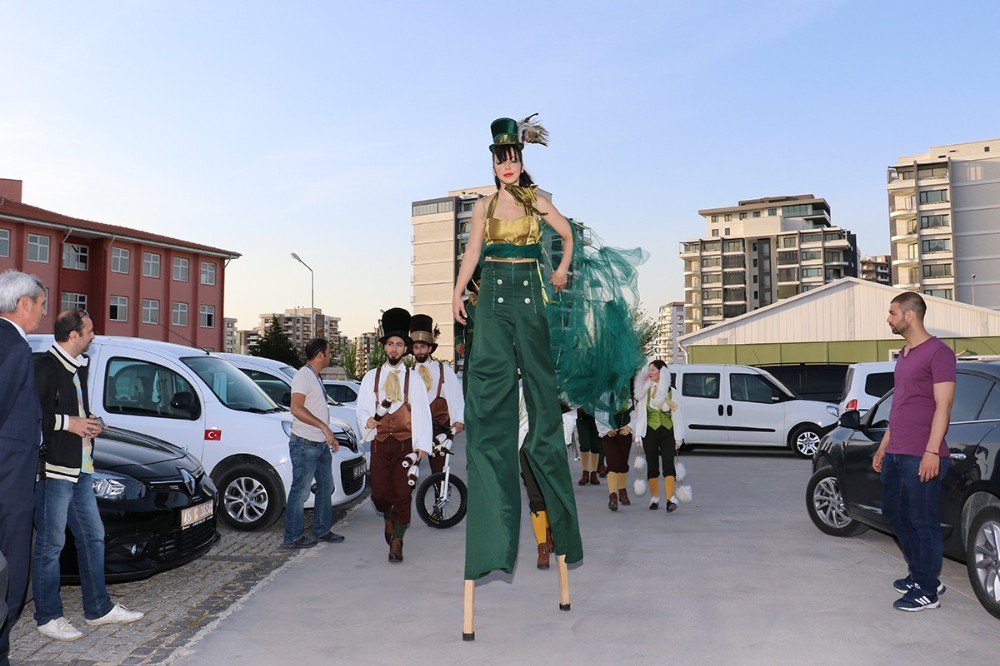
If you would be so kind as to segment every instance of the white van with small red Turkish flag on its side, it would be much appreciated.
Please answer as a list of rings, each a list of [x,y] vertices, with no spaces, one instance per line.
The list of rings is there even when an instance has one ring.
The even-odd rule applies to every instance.
[[[45,352],[51,335],[29,335]],[[219,487],[219,518],[238,530],[277,520],[292,484],[292,416],[217,354],[141,338],[98,336],[90,357],[91,411],[108,425],[191,452]],[[360,495],[367,472],[351,432],[334,428],[333,505]],[[309,496],[306,506],[312,506]]]

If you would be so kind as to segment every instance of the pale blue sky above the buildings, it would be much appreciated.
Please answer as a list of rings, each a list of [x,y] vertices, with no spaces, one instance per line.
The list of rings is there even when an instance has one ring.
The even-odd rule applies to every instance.
[[[349,335],[410,301],[410,202],[490,182],[540,112],[560,210],[681,299],[699,208],[813,193],[888,251],[885,167],[1000,136],[1000,3],[0,2],[0,177],[42,208],[236,250],[226,314]]]

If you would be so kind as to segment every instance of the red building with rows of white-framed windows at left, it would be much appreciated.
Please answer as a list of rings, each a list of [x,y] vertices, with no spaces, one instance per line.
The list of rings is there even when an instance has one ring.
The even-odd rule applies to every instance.
[[[29,206],[21,185],[0,179],[0,271],[45,284],[38,332],[82,307],[98,334],[224,349],[226,264],[238,253]]]

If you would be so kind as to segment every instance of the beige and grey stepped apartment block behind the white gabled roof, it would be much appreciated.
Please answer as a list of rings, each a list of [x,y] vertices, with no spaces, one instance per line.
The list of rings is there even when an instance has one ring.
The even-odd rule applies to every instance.
[[[679,253],[687,332],[857,277],[857,239],[832,225],[825,199],[766,197],[698,214],[707,237],[681,243]]]

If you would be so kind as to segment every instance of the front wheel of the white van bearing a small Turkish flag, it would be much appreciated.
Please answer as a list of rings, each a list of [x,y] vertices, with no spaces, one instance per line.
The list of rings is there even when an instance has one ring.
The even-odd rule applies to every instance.
[[[281,480],[257,465],[234,467],[217,485],[219,518],[234,530],[262,530],[277,520],[285,505]]]

